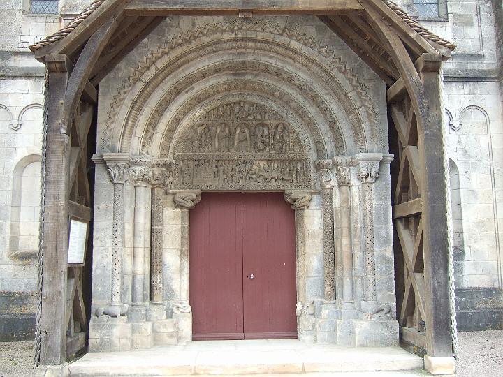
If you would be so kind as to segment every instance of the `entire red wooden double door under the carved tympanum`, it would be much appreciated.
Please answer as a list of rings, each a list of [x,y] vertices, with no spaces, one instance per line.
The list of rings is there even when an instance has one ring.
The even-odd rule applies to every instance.
[[[189,259],[194,340],[297,337],[295,219],[282,193],[203,193]]]

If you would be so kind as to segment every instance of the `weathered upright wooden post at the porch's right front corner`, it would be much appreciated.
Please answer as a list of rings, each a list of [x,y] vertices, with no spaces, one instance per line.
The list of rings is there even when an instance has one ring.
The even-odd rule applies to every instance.
[[[426,346],[431,357],[452,357],[441,64],[441,59],[432,54],[423,54],[416,63],[423,93],[428,94],[428,101],[422,103],[423,127],[418,126],[418,149],[423,180]]]

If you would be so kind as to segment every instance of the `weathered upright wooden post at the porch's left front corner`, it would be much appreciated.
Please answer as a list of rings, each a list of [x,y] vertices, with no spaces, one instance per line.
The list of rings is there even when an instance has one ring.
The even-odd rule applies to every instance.
[[[66,275],[68,260],[68,200],[70,135],[64,98],[71,62],[63,54],[46,57],[48,69],[45,217],[43,223],[41,365],[66,361]]]

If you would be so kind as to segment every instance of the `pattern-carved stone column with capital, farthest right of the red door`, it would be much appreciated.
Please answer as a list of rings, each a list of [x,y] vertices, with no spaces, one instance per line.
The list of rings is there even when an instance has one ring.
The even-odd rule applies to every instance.
[[[361,182],[361,207],[363,209],[363,242],[365,248],[365,301],[362,309],[370,313],[377,301],[376,278],[375,278],[375,251],[374,251],[374,202],[372,185],[379,177],[379,162],[382,154],[358,154],[356,165],[358,166],[358,178]],[[369,306],[370,305],[370,306]]]

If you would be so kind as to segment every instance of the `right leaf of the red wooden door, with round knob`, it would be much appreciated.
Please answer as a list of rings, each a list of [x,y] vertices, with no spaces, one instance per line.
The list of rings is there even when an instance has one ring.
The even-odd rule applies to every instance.
[[[296,338],[293,209],[282,193],[244,194],[242,229],[245,339]]]

